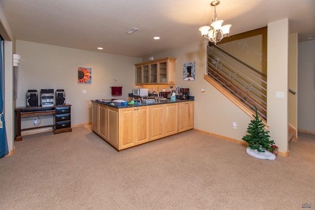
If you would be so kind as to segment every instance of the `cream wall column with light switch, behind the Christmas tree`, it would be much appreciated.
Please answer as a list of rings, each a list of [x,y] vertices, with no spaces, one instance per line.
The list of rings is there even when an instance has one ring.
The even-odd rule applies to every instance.
[[[288,151],[288,19],[268,24],[267,123],[271,140]],[[276,92],[284,98],[276,98]]]

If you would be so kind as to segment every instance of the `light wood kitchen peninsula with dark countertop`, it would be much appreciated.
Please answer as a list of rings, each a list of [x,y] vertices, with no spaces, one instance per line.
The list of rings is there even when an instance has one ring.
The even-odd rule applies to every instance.
[[[92,100],[92,130],[116,150],[193,128],[193,96],[131,106],[113,100]]]

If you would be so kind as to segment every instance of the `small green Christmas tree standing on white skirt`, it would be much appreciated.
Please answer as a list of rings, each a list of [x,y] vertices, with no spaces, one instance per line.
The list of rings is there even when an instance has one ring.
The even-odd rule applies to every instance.
[[[269,140],[270,136],[268,135],[269,130],[265,130],[264,123],[259,119],[257,115],[257,108],[255,108],[256,116],[252,115],[255,119],[251,120],[251,123],[248,125],[247,132],[249,135],[246,135],[242,140],[248,143],[248,147],[252,150],[257,150],[259,152],[265,152],[264,150],[269,150],[270,152],[276,148],[271,148],[275,142]]]

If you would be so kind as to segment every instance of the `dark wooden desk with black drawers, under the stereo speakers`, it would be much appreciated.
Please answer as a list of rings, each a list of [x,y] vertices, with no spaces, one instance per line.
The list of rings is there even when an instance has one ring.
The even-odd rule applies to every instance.
[[[54,134],[71,132],[71,104],[49,107],[17,107],[16,113],[16,137],[15,141],[22,141],[21,131],[53,127]],[[21,129],[21,118],[28,116],[54,115],[54,124]]]

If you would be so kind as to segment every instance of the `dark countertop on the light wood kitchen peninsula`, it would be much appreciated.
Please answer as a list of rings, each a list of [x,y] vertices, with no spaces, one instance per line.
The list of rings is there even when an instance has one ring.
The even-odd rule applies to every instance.
[[[129,97],[133,97],[132,94],[130,96],[129,94]],[[138,98],[139,96],[135,96],[135,98]],[[141,97],[141,96],[140,96]],[[143,98],[145,98],[146,96],[143,96]],[[150,103],[150,104],[136,104],[136,105],[128,105],[128,106],[122,106],[120,103],[116,103],[116,102],[113,102],[113,100],[116,100],[116,99],[96,99],[96,100],[91,100],[93,102],[97,102],[97,103],[100,103],[100,104],[106,104],[108,106],[112,106],[112,107],[116,107],[116,108],[128,108],[128,107],[139,107],[139,106],[152,106],[152,105],[158,105],[158,104],[168,104],[168,103],[180,103],[180,102],[186,102],[186,101],[194,101],[194,96],[190,96],[189,99],[186,99],[186,100],[182,100],[182,99],[179,99],[179,97],[177,97],[175,99],[175,101],[171,101],[171,99],[167,99],[167,100],[162,100],[160,101],[159,103]]]

